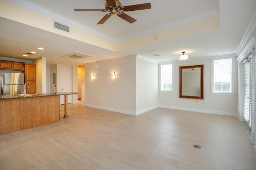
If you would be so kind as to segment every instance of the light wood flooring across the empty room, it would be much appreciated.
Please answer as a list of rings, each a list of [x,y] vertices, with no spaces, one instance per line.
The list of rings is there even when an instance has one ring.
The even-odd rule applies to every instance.
[[[236,117],[70,107],[69,118],[60,109],[59,122],[1,135],[0,169],[256,170],[256,153]]]

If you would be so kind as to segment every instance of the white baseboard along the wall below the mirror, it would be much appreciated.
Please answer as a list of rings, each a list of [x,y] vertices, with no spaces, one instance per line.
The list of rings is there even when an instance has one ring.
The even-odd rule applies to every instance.
[[[215,115],[226,115],[226,116],[236,116],[237,117],[237,113],[231,113],[231,112],[225,112],[225,111],[195,109],[195,108],[188,108],[188,107],[176,107],[176,106],[166,106],[166,105],[159,105],[159,107],[167,108],[167,109],[195,111],[195,112],[201,112],[201,113],[210,113],[210,114],[215,114]]]

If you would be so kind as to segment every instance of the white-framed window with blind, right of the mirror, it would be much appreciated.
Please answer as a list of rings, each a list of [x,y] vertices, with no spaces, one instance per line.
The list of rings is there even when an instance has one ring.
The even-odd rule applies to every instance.
[[[212,59],[212,94],[234,95],[234,57]]]

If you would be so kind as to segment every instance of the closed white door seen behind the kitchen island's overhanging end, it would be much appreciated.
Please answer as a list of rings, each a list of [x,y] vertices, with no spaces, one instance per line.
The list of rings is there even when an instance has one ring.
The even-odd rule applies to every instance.
[[[60,70],[60,90],[59,92],[72,92],[71,89],[71,70]],[[64,96],[60,96],[60,104],[64,104]],[[68,95],[68,104],[71,103],[71,95]]]

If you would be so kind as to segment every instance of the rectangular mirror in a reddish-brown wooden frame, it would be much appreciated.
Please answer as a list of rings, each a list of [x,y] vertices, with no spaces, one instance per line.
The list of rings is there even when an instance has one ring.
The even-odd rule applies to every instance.
[[[204,65],[180,66],[180,98],[204,99]]]

